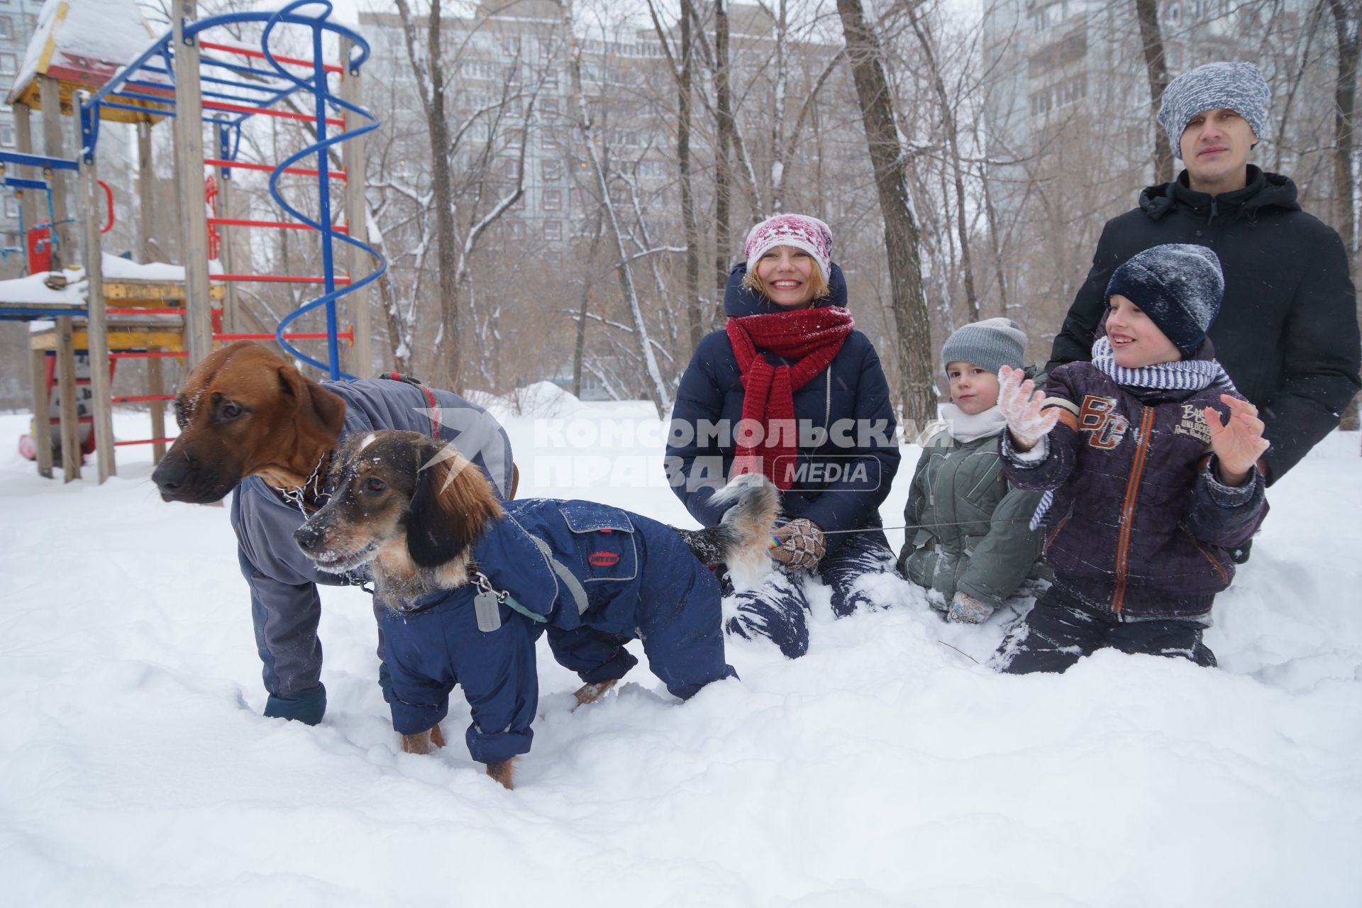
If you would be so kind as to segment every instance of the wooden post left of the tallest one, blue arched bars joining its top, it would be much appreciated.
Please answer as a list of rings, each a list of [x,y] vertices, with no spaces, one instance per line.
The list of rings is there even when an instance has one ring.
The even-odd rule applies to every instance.
[[[99,208],[104,193],[95,177],[94,148],[82,147],[80,105],[90,93],[71,98],[76,121],[76,159],[80,163],[80,221],[84,225],[86,336],[90,348],[90,395],[94,417],[94,457],[99,482],[118,472],[113,460],[113,388],[109,381],[109,323],[104,312],[104,250]]]

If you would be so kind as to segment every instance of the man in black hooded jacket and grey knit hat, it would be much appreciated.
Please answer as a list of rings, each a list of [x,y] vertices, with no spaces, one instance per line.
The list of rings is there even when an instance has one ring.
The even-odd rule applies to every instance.
[[[1166,242],[1209,246],[1224,267],[1211,339],[1267,426],[1272,447],[1258,466],[1272,483],[1337,426],[1359,388],[1362,348],[1339,234],[1301,211],[1290,178],[1248,162],[1268,97],[1252,63],[1207,64],[1169,84],[1159,123],[1186,170],[1106,223],[1046,370],[1091,359],[1118,265]]]

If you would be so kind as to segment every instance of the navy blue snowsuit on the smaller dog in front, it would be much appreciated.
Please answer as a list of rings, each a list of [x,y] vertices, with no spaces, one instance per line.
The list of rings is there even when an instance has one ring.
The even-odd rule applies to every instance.
[[[642,640],[648,667],[677,697],[737,677],[723,659],[719,584],[671,528],[591,501],[503,502],[504,517],[474,543],[477,570],[508,594],[479,630],[466,584],[383,619],[392,671],[392,727],[410,735],[448,713],[463,686],[473,709],[469,753],[500,762],[530,750],[538,707],[534,644],[587,683],[622,678]]]

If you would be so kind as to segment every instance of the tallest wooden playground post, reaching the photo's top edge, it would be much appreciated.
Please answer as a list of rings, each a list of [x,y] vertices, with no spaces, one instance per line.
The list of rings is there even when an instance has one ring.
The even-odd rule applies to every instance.
[[[196,0],[176,0],[174,19],[174,154],[180,178],[180,261],[185,276],[187,369],[212,353],[212,305],[208,283],[208,215],[203,207],[203,95],[199,86],[199,45],[185,38]]]

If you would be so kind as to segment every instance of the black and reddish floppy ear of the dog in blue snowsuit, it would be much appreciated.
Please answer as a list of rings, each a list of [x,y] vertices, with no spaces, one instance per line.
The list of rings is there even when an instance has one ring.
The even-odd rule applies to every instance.
[[[501,516],[501,508],[486,476],[452,449],[441,451],[426,440],[414,453],[407,551],[421,568],[436,568],[473,545],[484,524]]]

